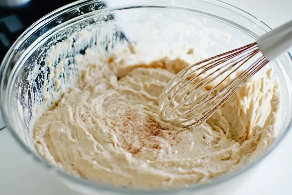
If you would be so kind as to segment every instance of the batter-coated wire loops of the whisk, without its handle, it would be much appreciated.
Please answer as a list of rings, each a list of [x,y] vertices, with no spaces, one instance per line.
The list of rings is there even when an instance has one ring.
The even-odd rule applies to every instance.
[[[159,115],[163,120],[185,127],[205,122],[269,62],[262,55],[229,83],[224,83],[259,53],[255,42],[186,67],[164,88],[159,101]],[[216,83],[214,87],[205,90],[213,82]],[[223,84],[225,86],[219,89]]]

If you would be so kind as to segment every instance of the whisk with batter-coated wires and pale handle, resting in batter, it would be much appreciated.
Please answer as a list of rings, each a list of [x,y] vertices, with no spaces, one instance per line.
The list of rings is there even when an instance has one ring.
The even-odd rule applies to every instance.
[[[199,126],[291,45],[292,21],[257,42],[186,67],[164,87],[159,98],[160,118],[184,127]]]

